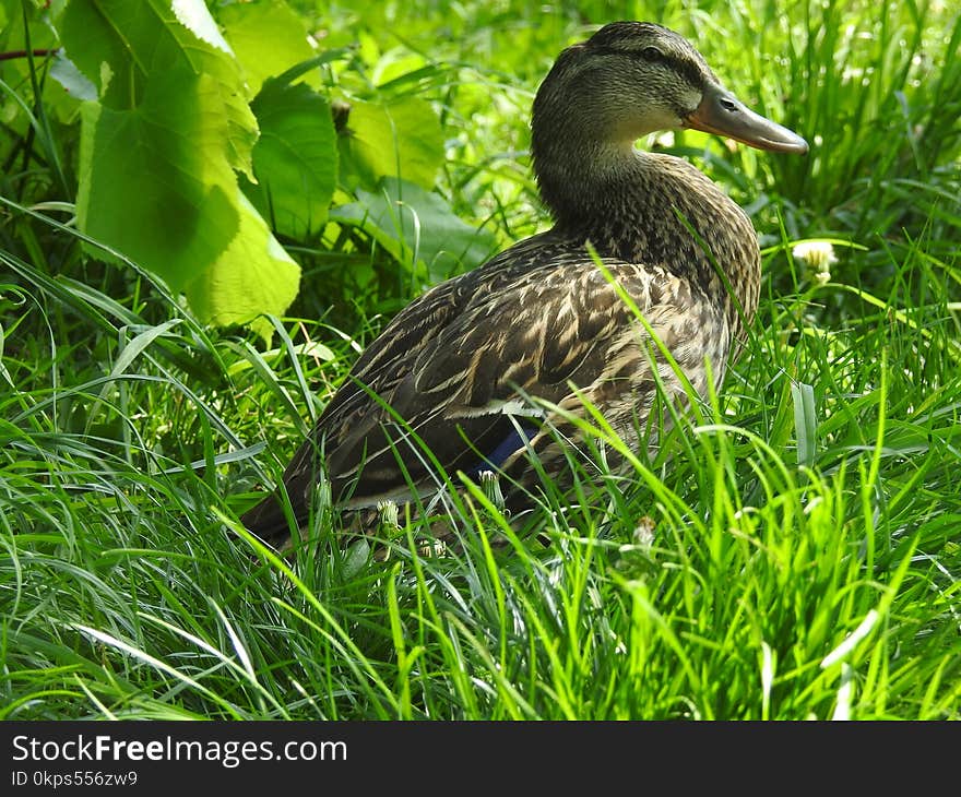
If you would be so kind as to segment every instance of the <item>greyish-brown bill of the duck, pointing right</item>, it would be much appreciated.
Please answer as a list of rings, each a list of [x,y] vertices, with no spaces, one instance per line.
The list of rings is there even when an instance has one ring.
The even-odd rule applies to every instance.
[[[716,85],[704,90],[701,104],[685,120],[684,127],[726,135],[758,150],[804,155],[808,148],[807,142],[797,133],[755,114],[733,94]]]

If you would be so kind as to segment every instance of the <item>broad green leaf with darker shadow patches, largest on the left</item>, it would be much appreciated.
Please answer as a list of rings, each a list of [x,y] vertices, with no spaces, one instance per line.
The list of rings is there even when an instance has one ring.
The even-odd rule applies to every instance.
[[[211,79],[154,75],[137,108],[83,106],[80,229],[181,289],[239,229],[227,121],[209,112]]]

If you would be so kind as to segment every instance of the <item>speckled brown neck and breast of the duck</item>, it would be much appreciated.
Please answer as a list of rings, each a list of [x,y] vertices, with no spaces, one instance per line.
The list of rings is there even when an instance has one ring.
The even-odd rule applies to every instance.
[[[568,146],[557,143],[565,141]],[[728,318],[739,329],[720,266],[752,317],[760,258],[754,227],[736,203],[680,158],[570,142],[545,141],[536,131],[533,142],[534,171],[557,234],[590,240],[601,257],[687,278],[732,310]]]

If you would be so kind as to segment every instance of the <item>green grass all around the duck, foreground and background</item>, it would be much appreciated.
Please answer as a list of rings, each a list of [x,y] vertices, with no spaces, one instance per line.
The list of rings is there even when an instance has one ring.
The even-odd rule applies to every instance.
[[[384,25],[344,11],[331,44],[366,26],[381,55],[424,55],[436,80],[412,91],[450,141],[438,190],[505,241],[529,235],[544,217],[513,153],[537,80],[584,21],[643,9],[428,5],[380,4]],[[961,25],[935,3],[811,8],[824,19],[774,24],[767,2],[655,17],[821,139],[807,160],[675,142],[764,246],[722,394],[627,476],[590,429],[596,468],[572,496],[545,485],[517,530],[468,489],[439,556],[416,522],[385,527],[381,561],[321,515],[278,559],[236,521],[383,297],[332,308],[346,289],[305,254],[313,281],[264,349],[28,214],[27,182],[69,199],[59,167],[4,177],[0,716],[961,718]],[[827,285],[791,254],[805,238],[846,242]]]

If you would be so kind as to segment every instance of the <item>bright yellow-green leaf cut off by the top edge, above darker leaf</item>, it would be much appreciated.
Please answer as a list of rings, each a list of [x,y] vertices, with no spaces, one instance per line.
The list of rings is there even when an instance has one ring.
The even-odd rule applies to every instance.
[[[247,75],[251,94],[260,92],[268,78],[312,58],[304,21],[283,0],[234,3],[217,10],[224,35]],[[311,83],[311,76],[306,80]],[[317,78],[313,81],[319,83]]]

